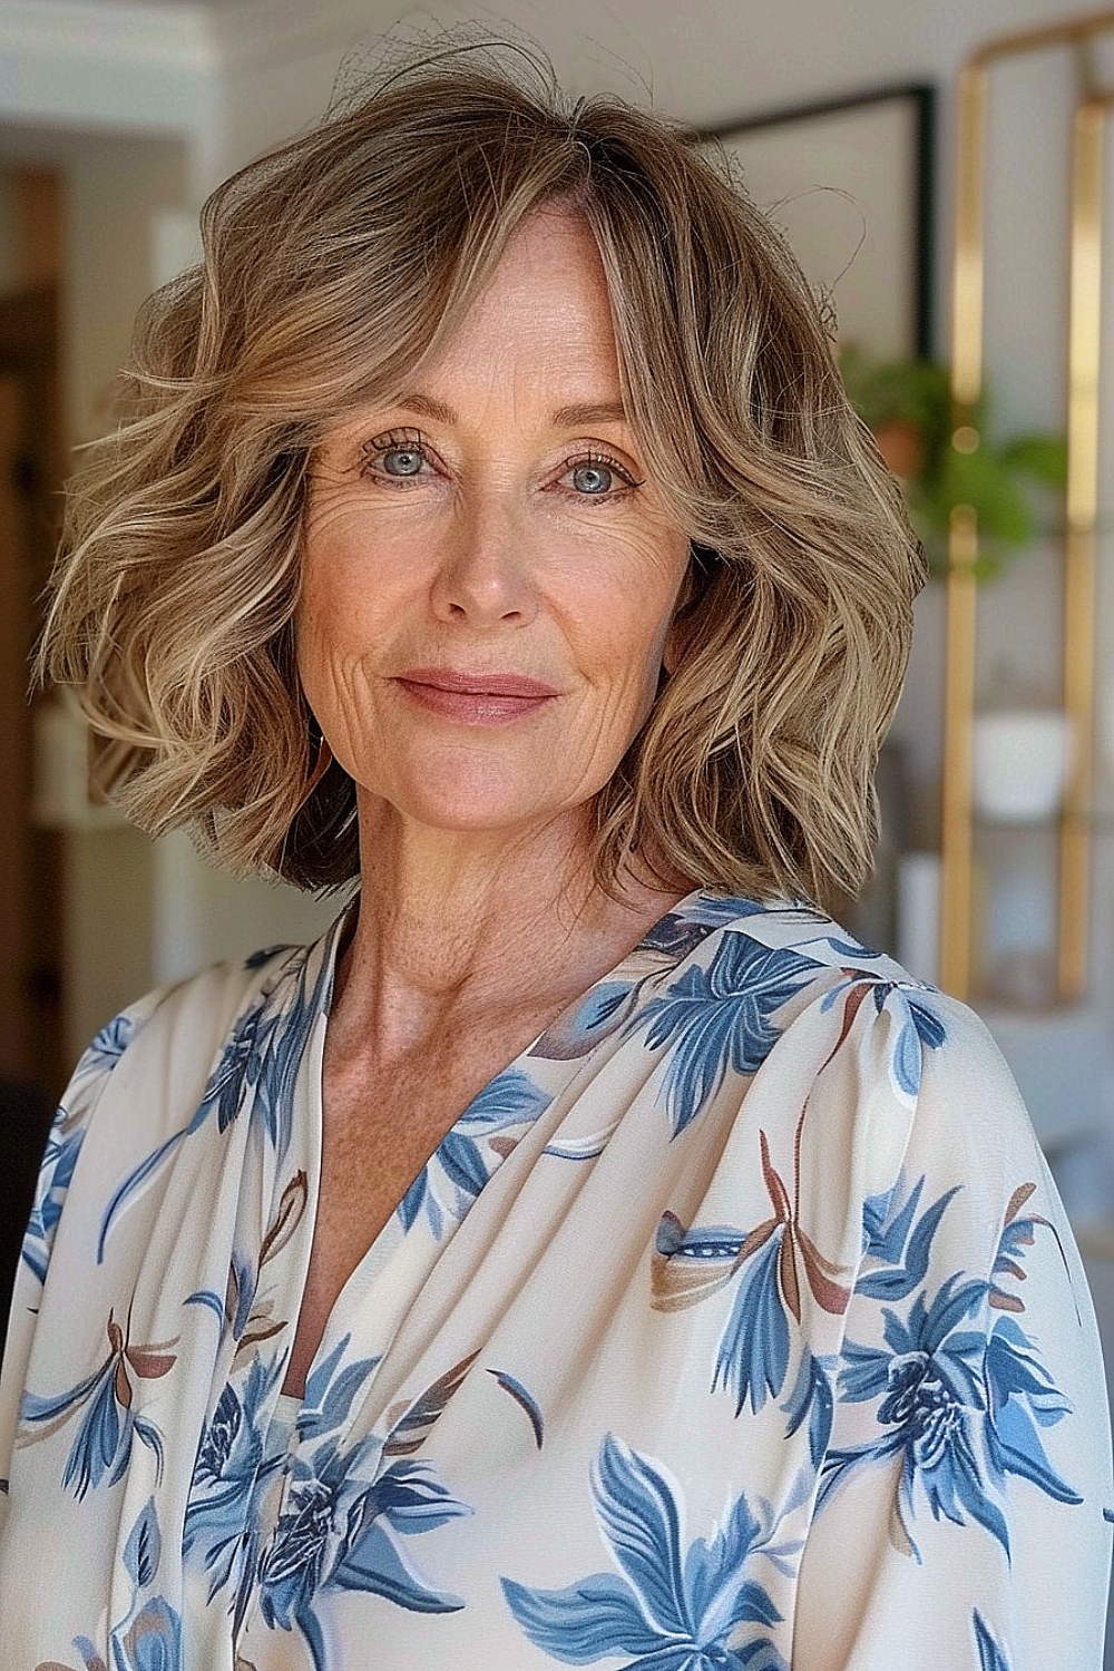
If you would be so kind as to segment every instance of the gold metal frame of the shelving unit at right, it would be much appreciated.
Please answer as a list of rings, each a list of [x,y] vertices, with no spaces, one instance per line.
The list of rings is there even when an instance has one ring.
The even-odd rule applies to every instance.
[[[1114,33],[1114,10],[1004,35],[965,63],[959,84],[959,179],[952,269],[954,444],[979,446],[970,411],[982,391],[985,266],[985,115],[989,70],[1004,58],[1076,47],[1081,100],[1072,130],[1071,284],[1067,321],[1067,518],[1064,536],[1064,690],[1074,755],[1059,825],[1056,996],[1079,999],[1087,983],[1091,882],[1094,597],[1099,461],[1102,281],[1102,150],[1114,89],[1094,85],[1087,48]],[[940,983],[967,998],[972,979],[972,737],[975,710],[977,516],[952,511],[944,702]]]

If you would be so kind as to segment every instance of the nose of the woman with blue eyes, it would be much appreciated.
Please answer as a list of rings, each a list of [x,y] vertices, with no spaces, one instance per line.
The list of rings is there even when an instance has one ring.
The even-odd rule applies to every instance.
[[[523,627],[538,612],[529,536],[499,495],[469,496],[446,531],[431,588],[439,620]]]

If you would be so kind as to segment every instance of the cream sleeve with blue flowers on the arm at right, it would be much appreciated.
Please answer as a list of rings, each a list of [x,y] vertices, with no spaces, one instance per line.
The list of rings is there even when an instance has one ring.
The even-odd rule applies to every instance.
[[[1111,1442],[1091,1298],[997,1046],[939,994],[922,1016],[902,1166],[862,1201],[793,1671],[1097,1668]]]

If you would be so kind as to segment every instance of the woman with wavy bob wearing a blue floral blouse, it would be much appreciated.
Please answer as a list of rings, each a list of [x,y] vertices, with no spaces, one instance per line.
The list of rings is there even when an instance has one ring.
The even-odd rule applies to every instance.
[[[863,874],[920,558],[713,162],[468,52],[205,211],[45,657],[147,829],[359,874],[63,1098],[12,1671],[1097,1666],[1079,1262]]]

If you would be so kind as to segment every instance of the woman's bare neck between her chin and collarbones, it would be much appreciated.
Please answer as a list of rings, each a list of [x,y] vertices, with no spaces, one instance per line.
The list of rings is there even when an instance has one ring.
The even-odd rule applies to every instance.
[[[560,1011],[688,887],[631,872],[611,899],[588,852],[586,817],[456,832],[361,800],[359,917],[337,969],[334,1036],[389,1059],[449,1021]]]

